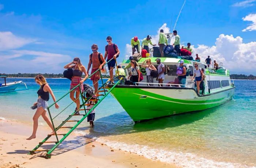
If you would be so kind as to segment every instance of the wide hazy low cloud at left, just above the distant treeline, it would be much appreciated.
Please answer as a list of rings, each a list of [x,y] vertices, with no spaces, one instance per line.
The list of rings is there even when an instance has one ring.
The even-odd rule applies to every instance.
[[[72,61],[70,56],[64,54],[31,50],[11,50],[9,52],[8,55],[0,56],[2,71],[4,69],[10,70],[6,73],[61,72],[63,70],[61,64]]]

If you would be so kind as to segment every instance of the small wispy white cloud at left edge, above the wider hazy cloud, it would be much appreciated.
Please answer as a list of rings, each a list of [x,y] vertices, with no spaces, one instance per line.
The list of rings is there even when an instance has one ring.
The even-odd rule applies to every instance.
[[[32,42],[35,39],[20,38],[10,31],[0,31],[0,51],[16,49]]]

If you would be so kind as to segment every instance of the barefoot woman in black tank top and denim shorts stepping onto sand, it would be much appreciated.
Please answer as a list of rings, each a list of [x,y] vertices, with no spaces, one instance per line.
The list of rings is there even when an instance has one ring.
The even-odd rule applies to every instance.
[[[31,140],[31,139],[35,138],[35,134],[37,133],[37,127],[38,127],[38,118],[40,116],[42,116],[44,118],[46,123],[52,129],[52,133],[50,133],[50,134],[51,135],[54,134],[54,129],[53,129],[53,126],[52,126],[52,122],[50,122],[50,119],[47,116],[46,110],[47,110],[47,107],[48,107],[47,102],[49,100],[49,93],[52,96],[52,99],[53,99],[54,102],[56,101],[55,96],[52,92],[52,89],[50,88],[50,86],[46,82],[44,76],[37,75],[35,77],[35,82],[40,85],[40,88],[37,91],[38,100],[37,100],[37,102],[34,103],[34,106],[37,105],[37,111],[35,112],[34,117],[33,117],[33,121],[34,121],[33,133],[29,138],[27,138],[27,140]],[[57,103],[55,103],[55,108],[59,108],[59,105]]]

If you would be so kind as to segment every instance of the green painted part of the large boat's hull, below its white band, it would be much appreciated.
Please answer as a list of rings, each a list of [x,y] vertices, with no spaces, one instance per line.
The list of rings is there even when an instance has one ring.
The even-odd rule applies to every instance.
[[[178,89],[165,90],[178,91]],[[141,121],[219,106],[231,98],[234,89],[187,100],[169,98],[140,88],[114,88],[111,93],[133,121]]]

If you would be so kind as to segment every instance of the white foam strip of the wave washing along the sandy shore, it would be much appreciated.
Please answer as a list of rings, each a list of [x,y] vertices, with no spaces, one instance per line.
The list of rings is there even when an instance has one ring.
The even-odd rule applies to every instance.
[[[86,131],[75,131],[75,134],[80,134],[88,138],[93,138],[95,141],[106,144],[107,146],[110,146],[111,148],[116,150],[123,150],[125,152],[130,152],[133,154],[137,154],[139,156],[144,156],[151,160],[158,160],[161,162],[175,164],[182,167],[248,167],[246,165],[241,165],[239,163],[217,162],[203,157],[198,157],[196,154],[193,153],[184,153],[164,149],[154,149],[148,146],[138,144],[128,145],[123,142],[109,141],[106,138],[97,138],[94,135],[88,134]]]

